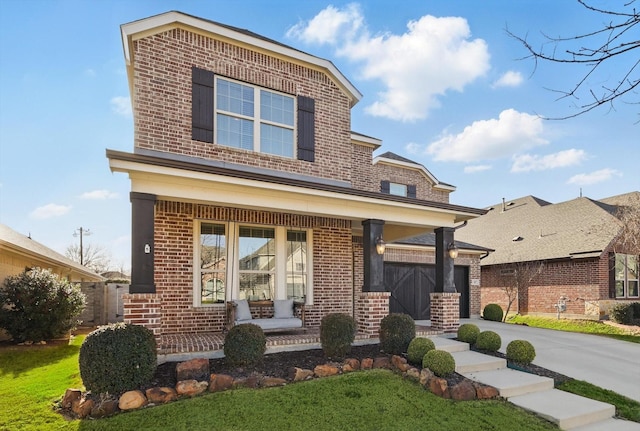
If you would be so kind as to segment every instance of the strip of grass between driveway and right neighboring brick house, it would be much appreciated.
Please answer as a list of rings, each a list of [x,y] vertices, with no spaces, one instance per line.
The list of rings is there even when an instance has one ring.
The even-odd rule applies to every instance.
[[[558,331],[603,335],[631,343],[640,343],[640,336],[630,335],[624,329],[610,326],[597,320],[553,319],[516,315],[507,319],[507,323],[525,324],[536,328],[556,329]]]

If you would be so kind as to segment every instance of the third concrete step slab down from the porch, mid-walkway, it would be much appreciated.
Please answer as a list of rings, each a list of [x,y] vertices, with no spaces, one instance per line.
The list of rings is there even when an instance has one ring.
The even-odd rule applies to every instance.
[[[464,376],[476,382],[493,386],[500,391],[500,396],[504,398],[553,389],[553,379],[510,368],[464,373]]]

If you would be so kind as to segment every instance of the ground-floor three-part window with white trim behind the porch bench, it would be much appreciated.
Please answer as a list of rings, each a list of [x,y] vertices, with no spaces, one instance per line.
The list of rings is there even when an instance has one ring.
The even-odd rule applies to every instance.
[[[312,303],[310,229],[201,221],[194,305],[231,299]]]

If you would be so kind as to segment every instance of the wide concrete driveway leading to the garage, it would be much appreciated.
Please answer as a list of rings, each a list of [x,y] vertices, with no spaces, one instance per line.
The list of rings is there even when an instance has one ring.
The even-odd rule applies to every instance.
[[[482,319],[463,323],[498,333],[503,353],[510,341],[527,340],[536,349],[534,364],[640,401],[640,344]]]

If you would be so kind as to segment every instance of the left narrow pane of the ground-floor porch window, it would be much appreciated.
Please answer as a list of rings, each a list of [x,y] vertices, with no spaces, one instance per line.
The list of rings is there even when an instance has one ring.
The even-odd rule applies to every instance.
[[[225,301],[227,239],[223,224],[200,225],[200,303]]]

